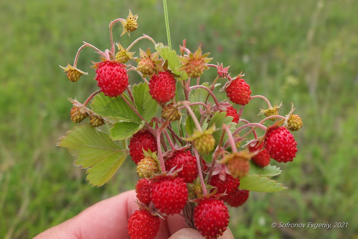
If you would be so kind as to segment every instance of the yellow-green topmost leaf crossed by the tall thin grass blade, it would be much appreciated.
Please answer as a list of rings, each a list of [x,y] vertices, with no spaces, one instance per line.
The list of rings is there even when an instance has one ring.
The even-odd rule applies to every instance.
[[[163,62],[168,60],[168,69],[171,70],[174,74],[180,75],[181,80],[187,80],[188,74],[185,71],[178,71],[178,68],[182,63],[180,63],[178,54],[174,50],[169,49],[168,46],[164,46],[163,43],[158,43],[155,45],[156,51],[159,52],[161,58],[163,58]]]

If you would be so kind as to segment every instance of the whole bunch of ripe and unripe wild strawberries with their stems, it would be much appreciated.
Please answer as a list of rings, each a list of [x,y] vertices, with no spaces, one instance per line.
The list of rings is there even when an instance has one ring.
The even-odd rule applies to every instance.
[[[223,67],[222,63],[209,64],[212,60],[207,57],[209,53],[202,54],[200,47],[194,53],[190,52],[185,47],[185,40],[183,46],[180,46],[181,54],[175,59],[180,61],[180,66],[175,69],[170,68],[173,65],[170,61],[174,61],[173,59],[160,58],[163,55],[161,51],[151,53],[149,48],[147,51],[140,50],[139,57],[135,57],[134,52],[129,52],[140,39],[148,39],[158,46],[147,35],[136,39],[127,48],[118,43],[118,50],[115,51],[112,26],[117,21],[124,27],[122,35],[129,35],[138,26],[137,15],[132,15],[131,12],[127,19],[112,21],[110,50],[102,52],[84,42],[74,65],[62,67],[67,72],[68,79],[76,82],[87,74],[76,68],[79,52],[84,47],[91,47],[101,56],[101,61],[93,66],[100,90],[93,93],[84,104],[71,100],[71,120],[80,123],[89,116],[89,123],[93,127],[105,122],[111,126],[113,122],[110,119],[93,113],[87,107],[92,97],[100,92],[106,97],[127,99],[127,104],[141,117],[133,106],[134,99],[127,72],[139,73],[149,87],[149,94],[161,107],[161,113],[160,116],[145,121],[144,126],[129,140],[127,150],[132,161],[137,164],[137,174],[141,177],[135,186],[139,209],[128,220],[129,235],[131,238],[154,238],[159,230],[160,218],[180,214],[188,227],[197,229],[206,238],[217,238],[223,234],[229,223],[226,204],[238,207],[248,199],[249,191],[240,189],[239,185],[240,178],[248,175],[249,161],[260,167],[269,165],[271,158],[277,162],[292,161],[296,156],[297,143],[290,130],[299,130],[302,121],[298,115],[292,114],[293,105],[288,115],[280,116],[281,104],[272,107],[265,97],[251,96],[250,86],[242,78],[243,74],[230,77],[229,67]],[[129,63],[131,60],[137,63],[136,66]],[[216,68],[216,79],[211,85],[200,85],[200,77],[209,68]],[[196,85],[190,86],[194,78]],[[221,91],[226,92],[227,99],[221,102],[218,102],[213,93],[219,79],[226,79]],[[183,90],[180,97],[185,99],[182,101],[178,100],[178,85]],[[198,89],[207,92],[206,100],[190,101],[190,92]],[[209,101],[209,97],[212,101]],[[260,123],[250,123],[241,118],[244,106],[254,98],[264,99],[269,106],[268,109],[261,109],[260,114],[264,114],[266,118]],[[193,112],[194,107],[199,109],[199,117]],[[237,107],[240,107],[238,111]],[[225,117],[231,117],[231,125],[208,127],[217,112],[225,112]],[[266,127],[263,125],[266,120],[276,122]],[[177,129],[172,127],[175,123],[178,124]],[[189,123],[194,125],[191,133],[190,130],[185,132],[183,129],[183,125],[187,129]],[[242,126],[238,126],[240,124]],[[241,135],[245,128],[250,130]],[[258,137],[255,129],[262,129],[265,133]],[[218,131],[221,132],[221,138],[217,143],[213,134]],[[253,139],[247,138],[251,133]],[[240,145],[244,140],[246,144]]]

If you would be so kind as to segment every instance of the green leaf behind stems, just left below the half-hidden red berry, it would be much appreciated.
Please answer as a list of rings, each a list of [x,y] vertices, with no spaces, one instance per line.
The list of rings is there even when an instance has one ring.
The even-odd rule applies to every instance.
[[[215,125],[216,129],[219,129],[217,131],[215,131],[213,133],[213,136],[215,138],[215,143],[218,144],[220,142],[220,137],[222,134],[222,126],[223,124],[226,124],[227,126],[229,126],[230,132],[234,133],[235,131],[235,127],[236,127],[236,123],[232,122],[233,117],[232,116],[226,116],[226,112],[220,112],[216,111],[213,115],[213,117],[211,118],[210,122],[209,122],[209,128],[212,125]],[[223,142],[226,142],[226,140],[228,139],[227,134],[224,135],[224,140]]]

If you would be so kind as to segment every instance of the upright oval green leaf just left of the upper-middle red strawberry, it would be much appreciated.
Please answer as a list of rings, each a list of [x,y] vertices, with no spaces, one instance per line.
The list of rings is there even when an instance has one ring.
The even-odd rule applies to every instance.
[[[133,86],[133,98],[138,113],[149,122],[155,115],[158,103],[149,94],[147,82]]]

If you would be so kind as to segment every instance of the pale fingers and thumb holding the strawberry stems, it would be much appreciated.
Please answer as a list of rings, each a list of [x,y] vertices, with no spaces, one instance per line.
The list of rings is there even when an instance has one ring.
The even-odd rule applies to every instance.
[[[49,228],[35,236],[34,239],[130,239],[127,223],[130,215],[137,209],[134,190],[121,193],[100,201],[86,210]],[[169,215],[160,222],[160,229],[155,239],[203,239],[199,231],[185,228],[180,215]],[[226,230],[219,239],[233,239],[230,230]]]

